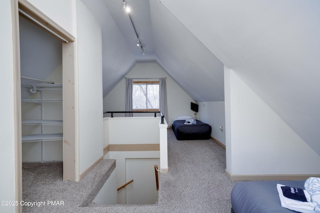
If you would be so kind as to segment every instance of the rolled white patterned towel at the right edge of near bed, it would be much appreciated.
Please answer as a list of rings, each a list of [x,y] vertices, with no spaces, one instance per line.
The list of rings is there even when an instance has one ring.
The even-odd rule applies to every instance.
[[[310,177],[304,182],[304,189],[311,197],[311,202],[315,205],[314,212],[320,213],[320,178]]]

